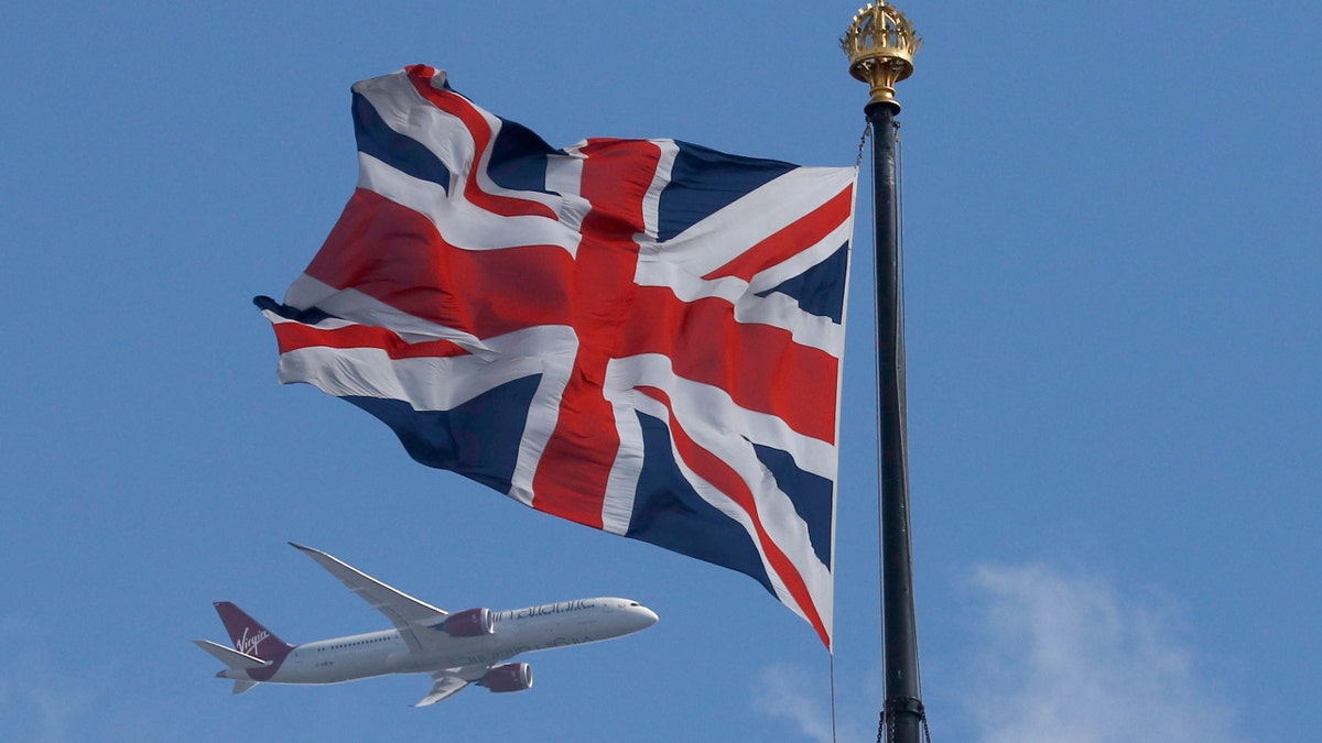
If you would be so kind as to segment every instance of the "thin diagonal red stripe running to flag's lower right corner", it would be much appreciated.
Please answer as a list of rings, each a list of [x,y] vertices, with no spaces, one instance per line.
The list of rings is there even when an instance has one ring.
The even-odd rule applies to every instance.
[[[780,578],[780,582],[789,591],[791,598],[798,604],[798,608],[808,617],[808,623],[813,625],[817,631],[817,636],[821,637],[826,649],[830,649],[830,635],[826,633],[826,625],[822,623],[821,615],[817,612],[817,606],[813,603],[812,594],[808,591],[808,584],[804,582],[802,575],[800,575],[798,568],[795,566],[793,561],[776,545],[775,539],[767,534],[765,526],[761,524],[761,513],[758,510],[758,501],[752,496],[752,490],[748,489],[748,484],[744,479],[739,476],[728,464],[722,461],[722,459],[710,451],[705,450],[697,442],[689,438],[683,427],[680,424],[674,415],[674,409],[670,405],[670,397],[657,387],[637,387],[637,390],[649,398],[660,402],[666,407],[670,414],[670,438],[674,442],[676,450],[680,452],[680,457],[683,463],[689,465],[689,469],[698,476],[710,483],[718,490],[720,490],[726,497],[735,502],[752,522],[754,531],[756,533],[758,543],[761,547],[761,554],[765,557],[771,568]]]

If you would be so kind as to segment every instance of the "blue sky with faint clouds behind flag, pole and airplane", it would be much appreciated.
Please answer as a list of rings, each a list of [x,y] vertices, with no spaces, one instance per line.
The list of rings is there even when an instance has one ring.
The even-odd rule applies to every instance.
[[[911,492],[933,738],[1303,740],[1322,726],[1322,9],[902,5]],[[828,656],[746,576],[411,463],[275,382],[279,296],[356,181],[348,87],[412,62],[547,141],[854,161],[834,3],[0,8],[0,734],[19,740],[829,740]],[[863,173],[867,180],[867,172]],[[837,541],[839,740],[879,672],[870,193]],[[210,603],[383,627],[299,541],[446,608],[660,624],[426,677],[231,698]]]

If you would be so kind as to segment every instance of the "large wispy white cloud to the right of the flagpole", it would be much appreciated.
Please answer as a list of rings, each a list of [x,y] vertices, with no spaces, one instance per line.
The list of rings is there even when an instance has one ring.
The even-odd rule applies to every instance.
[[[1159,606],[1040,566],[984,566],[973,586],[964,706],[982,743],[1237,740]]]

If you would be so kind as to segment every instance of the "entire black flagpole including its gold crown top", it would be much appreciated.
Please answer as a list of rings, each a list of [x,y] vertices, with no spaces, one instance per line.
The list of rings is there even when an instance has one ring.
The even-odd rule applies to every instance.
[[[917,664],[910,538],[908,453],[904,410],[904,316],[900,303],[899,180],[895,160],[895,83],[914,71],[923,40],[904,13],[884,1],[854,16],[841,46],[850,74],[871,86],[863,108],[873,127],[873,198],[876,221],[876,356],[880,403],[882,640],[887,742],[920,743],[927,727]],[[878,740],[882,731],[879,731]]]

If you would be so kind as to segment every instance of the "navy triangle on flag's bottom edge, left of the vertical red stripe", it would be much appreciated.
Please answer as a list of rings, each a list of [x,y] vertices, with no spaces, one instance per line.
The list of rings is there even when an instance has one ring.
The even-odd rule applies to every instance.
[[[541,379],[537,374],[506,382],[451,410],[414,410],[398,399],[344,399],[390,426],[416,461],[509,493],[527,407]]]

